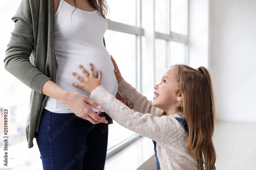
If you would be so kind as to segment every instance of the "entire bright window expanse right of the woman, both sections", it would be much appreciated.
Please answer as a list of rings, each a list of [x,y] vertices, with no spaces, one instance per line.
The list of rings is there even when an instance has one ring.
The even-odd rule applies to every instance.
[[[125,80],[152,101],[154,85],[165,70],[187,64],[188,0],[109,1],[108,5],[112,21],[107,21],[106,49]],[[134,134],[118,126],[109,127],[108,149]]]

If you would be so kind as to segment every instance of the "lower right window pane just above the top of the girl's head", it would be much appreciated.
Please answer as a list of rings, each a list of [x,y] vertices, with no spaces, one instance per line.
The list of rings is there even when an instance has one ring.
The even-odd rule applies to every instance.
[[[187,64],[187,50],[185,50],[185,44],[180,42],[170,42],[171,58],[170,64]]]

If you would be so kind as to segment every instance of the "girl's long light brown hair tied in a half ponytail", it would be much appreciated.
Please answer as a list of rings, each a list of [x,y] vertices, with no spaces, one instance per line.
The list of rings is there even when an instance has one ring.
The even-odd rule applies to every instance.
[[[184,64],[171,67],[175,68],[176,93],[183,97],[181,105],[175,110],[176,113],[183,112],[188,125],[189,152],[196,157],[198,169],[216,169],[216,153],[212,143],[216,111],[209,71],[202,66],[197,71]],[[159,117],[163,115],[166,115],[164,111]]]

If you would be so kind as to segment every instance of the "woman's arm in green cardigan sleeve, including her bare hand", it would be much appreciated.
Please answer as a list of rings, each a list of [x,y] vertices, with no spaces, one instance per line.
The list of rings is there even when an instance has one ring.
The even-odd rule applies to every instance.
[[[77,116],[89,120],[93,124],[107,122],[87,104],[98,108],[97,103],[86,95],[64,91],[30,62],[29,57],[34,50],[33,20],[30,7],[40,6],[39,4],[30,4],[30,2],[38,3],[38,1],[22,1],[16,14],[12,17],[15,25],[5,51],[4,68],[31,89],[66,104]],[[102,106],[98,109],[101,108]]]

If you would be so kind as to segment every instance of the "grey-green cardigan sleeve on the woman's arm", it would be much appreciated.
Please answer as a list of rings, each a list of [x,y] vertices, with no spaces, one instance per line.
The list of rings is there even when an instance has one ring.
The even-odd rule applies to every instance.
[[[22,83],[42,94],[42,86],[50,78],[30,62],[29,57],[34,50],[30,1],[20,3],[12,20],[15,25],[5,51],[4,68]]]

